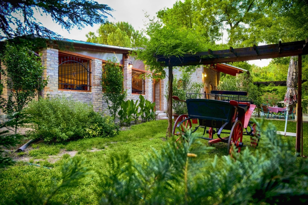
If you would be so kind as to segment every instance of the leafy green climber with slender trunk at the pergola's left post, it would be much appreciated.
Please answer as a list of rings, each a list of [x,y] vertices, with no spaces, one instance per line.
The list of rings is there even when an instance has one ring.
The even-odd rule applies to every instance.
[[[146,65],[152,73],[152,78],[165,78],[166,70],[164,66],[156,61],[155,55],[183,56],[186,53],[194,54],[209,48],[210,44],[196,30],[191,28],[180,28],[176,24],[163,24],[162,21],[149,19],[146,34],[150,37],[144,48],[136,49],[136,57]],[[173,22],[173,21],[171,21]],[[185,72],[195,69],[195,66],[188,66]],[[172,130],[172,82],[173,66],[168,66],[168,129],[166,136],[171,135]]]

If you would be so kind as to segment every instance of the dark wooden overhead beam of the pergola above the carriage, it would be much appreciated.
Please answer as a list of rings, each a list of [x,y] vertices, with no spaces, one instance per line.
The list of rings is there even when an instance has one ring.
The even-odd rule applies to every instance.
[[[156,55],[161,66],[189,66],[202,64],[215,64],[238,62],[247,60],[261,60],[267,58],[280,58],[300,54],[308,54],[307,39],[295,42],[277,43],[264,46],[251,46],[245,48],[232,48],[229,50],[208,50],[196,54],[184,54],[182,57],[170,56],[168,58]],[[305,48],[305,49],[303,49]]]

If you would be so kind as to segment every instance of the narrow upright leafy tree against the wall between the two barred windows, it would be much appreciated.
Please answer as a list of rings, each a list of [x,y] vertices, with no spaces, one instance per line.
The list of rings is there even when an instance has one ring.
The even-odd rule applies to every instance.
[[[126,97],[123,82],[122,68],[116,63],[115,59],[113,61],[108,60],[103,66],[103,99],[107,102],[108,109],[114,120],[122,101]]]

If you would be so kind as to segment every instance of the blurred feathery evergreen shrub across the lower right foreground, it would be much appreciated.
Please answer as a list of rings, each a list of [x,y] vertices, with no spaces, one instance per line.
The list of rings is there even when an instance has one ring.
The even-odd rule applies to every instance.
[[[260,131],[264,143],[255,155],[246,147],[234,158],[205,160],[211,147],[191,131],[178,148],[168,143],[141,163],[112,155],[108,173],[100,174],[100,204],[306,204],[308,161],[294,155],[273,125]]]

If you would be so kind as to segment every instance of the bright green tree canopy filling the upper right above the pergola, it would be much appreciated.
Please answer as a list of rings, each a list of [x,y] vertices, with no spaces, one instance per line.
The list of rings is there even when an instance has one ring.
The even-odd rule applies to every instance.
[[[277,43],[307,38],[308,4],[302,0],[184,0],[157,13],[164,24],[192,28],[208,42],[222,31],[230,46]]]

